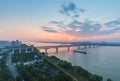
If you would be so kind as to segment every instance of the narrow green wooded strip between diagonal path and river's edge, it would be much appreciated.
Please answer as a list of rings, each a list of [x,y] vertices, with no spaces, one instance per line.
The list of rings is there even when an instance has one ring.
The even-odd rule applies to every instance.
[[[47,57],[47,60],[55,66],[60,67],[65,72],[71,74],[71,77],[76,78],[77,81],[102,81],[101,76],[91,74],[80,66],[72,66],[70,62],[60,60],[55,56]]]

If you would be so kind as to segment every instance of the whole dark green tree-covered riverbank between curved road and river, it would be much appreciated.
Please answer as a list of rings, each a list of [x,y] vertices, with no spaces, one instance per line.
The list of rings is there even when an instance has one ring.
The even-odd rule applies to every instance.
[[[31,62],[34,60],[37,61]],[[37,49],[31,53],[13,54],[12,61],[16,63],[20,77],[25,81],[102,81],[99,75],[92,74],[80,66],[73,66],[55,56],[47,56]],[[26,65],[26,62],[30,63]]]

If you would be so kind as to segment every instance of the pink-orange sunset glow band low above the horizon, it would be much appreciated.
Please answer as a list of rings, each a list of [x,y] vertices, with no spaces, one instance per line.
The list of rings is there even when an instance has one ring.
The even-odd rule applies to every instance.
[[[9,24],[8,24],[9,25]],[[18,27],[18,28],[16,28]],[[64,31],[59,31],[55,33],[45,32],[38,27],[32,27],[29,25],[13,25],[13,29],[10,27],[4,28],[1,30],[0,37],[1,39],[11,39],[11,40],[45,40],[45,41],[89,41],[89,40],[104,40],[111,38],[119,38],[120,33],[113,33],[109,35],[94,35],[94,36],[75,36],[72,34],[68,34]],[[11,31],[9,31],[11,30]],[[19,31],[16,31],[19,30]]]

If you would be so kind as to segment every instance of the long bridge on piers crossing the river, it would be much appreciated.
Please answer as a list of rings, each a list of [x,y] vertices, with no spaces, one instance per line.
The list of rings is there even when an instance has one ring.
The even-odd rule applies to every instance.
[[[56,53],[58,53],[59,48],[67,47],[68,51],[70,50],[70,47],[78,47],[80,49],[81,47],[83,48],[91,48],[91,47],[99,47],[102,44],[100,43],[80,43],[80,44],[62,44],[62,45],[53,45],[53,46],[36,46],[37,49],[45,49],[45,53],[47,53],[48,49],[54,48],[56,49]]]

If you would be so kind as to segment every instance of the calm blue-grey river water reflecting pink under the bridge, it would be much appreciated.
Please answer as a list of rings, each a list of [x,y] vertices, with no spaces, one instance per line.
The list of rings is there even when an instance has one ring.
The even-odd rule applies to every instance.
[[[53,45],[53,44],[40,44],[31,43],[35,46],[40,45]],[[56,45],[56,44],[54,44]],[[71,62],[72,65],[81,66],[91,73],[98,74],[103,77],[103,81],[107,78],[111,78],[113,81],[120,81],[120,47],[108,47],[101,46],[96,48],[80,49],[86,51],[87,54],[73,52],[74,47],[70,48],[68,52],[67,48],[59,48],[59,52],[56,50],[49,49],[49,56],[56,56],[62,60]],[[40,49],[44,52],[44,49]]]

